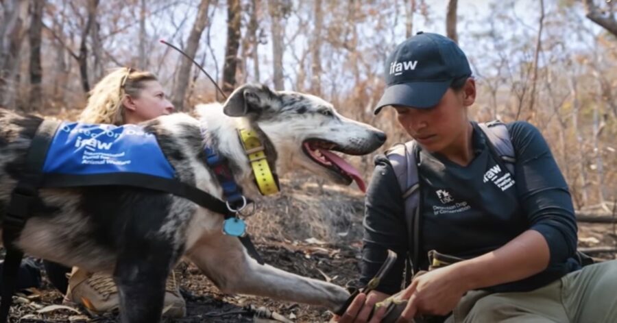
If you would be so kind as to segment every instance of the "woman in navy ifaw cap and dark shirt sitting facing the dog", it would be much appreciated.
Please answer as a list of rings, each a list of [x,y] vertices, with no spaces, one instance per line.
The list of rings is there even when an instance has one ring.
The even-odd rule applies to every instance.
[[[361,283],[387,250],[398,260],[333,320],[381,322],[387,307],[374,305],[401,290],[410,241],[418,241],[413,265],[431,270],[396,296],[406,301],[397,322],[617,322],[617,261],[581,269],[568,186],[542,134],[523,121],[500,125],[513,149],[505,167],[486,125],[468,119],[476,84],[465,54],[444,36],[405,40],[385,74],[375,113],[396,109],[415,141],[407,154],[417,163],[409,169],[419,184],[418,231],[409,230],[409,196],[393,163],[379,156],[366,198]],[[456,260],[439,266],[435,254]]]

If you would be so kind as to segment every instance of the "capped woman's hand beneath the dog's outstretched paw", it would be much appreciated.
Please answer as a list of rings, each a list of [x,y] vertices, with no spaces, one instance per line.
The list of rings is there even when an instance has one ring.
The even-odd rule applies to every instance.
[[[373,307],[376,303],[381,302],[388,298],[388,294],[382,293],[380,291],[370,291],[368,296],[366,294],[358,294],[356,298],[354,298],[353,302],[347,308],[347,311],[343,314],[343,316],[335,315],[330,322],[339,322],[339,323],[378,323],[383,318],[385,314],[385,307],[380,307],[369,321],[369,315],[373,310]]]

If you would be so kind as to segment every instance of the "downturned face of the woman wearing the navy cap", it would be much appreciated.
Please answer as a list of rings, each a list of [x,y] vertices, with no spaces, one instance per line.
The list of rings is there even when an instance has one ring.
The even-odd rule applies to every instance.
[[[429,152],[441,152],[465,134],[468,127],[467,106],[473,104],[474,99],[475,84],[470,79],[461,91],[448,88],[433,108],[394,108],[398,122],[413,139]]]

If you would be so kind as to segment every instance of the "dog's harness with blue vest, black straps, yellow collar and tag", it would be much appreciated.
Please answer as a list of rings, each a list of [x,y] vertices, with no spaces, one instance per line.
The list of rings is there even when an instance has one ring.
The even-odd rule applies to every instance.
[[[265,159],[265,149],[258,136],[250,130],[240,130],[239,134],[252,164],[260,192],[264,195],[278,192],[278,181],[269,170]],[[123,135],[138,136],[138,143],[154,141],[156,144],[156,137],[143,132],[137,125],[116,127],[45,120],[36,130],[27,152],[23,176],[11,193],[8,208],[2,219],[2,237],[7,252],[2,274],[0,322],[7,322],[19,265],[23,258],[23,251],[19,250],[14,243],[30,215],[43,206],[38,196],[40,188],[122,185],[164,191],[186,198],[199,206],[223,215],[225,217],[223,232],[226,235],[238,237],[250,256],[263,265],[261,256],[245,232],[246,225],[238,216],[252,201],[244,197],[227,163],[213,147],[204,147],[206,163],[213,169],[217,180],[223,187],[225,202],[176,179],[173,167],[158,145],[145,144],[137,147],[131,146],[131,149],[123,151],[122,149],[112,150],[111,147],[117,143],[114,138]],[[108,137],[108,140],[102,140],[105,137]],[[71,141],[73,139],[75,139],[74,143]],[[82,159],[79,160],[61,149],[56,149],[58,141],[69,141],[75,151],[83,153]],[[154,158],[144,158],[143,154],[148,157],[154,156]],[[145,164],[135,165],[132,163],[132,156],[139,157],[140,162],[144,160]],[[66,164],[74,164],[73,173],[65,168]],[[90,169],[83,167],[84,164],[96,167]]]

